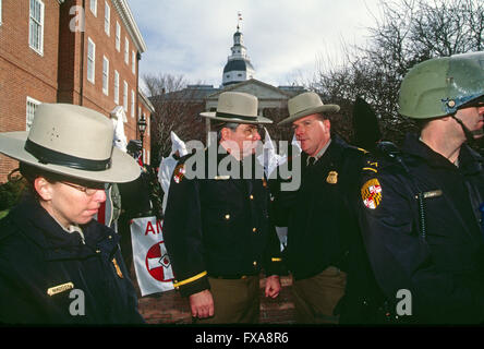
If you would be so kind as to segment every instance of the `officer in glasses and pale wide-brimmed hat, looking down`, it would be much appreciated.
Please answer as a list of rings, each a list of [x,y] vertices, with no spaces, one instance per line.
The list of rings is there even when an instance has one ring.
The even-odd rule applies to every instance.
[[[112,124],[73,105],[38,107],[29,132],[0,134],[29,195],[0,221],[0,322],[140,323],[117,233],[93,217],[105,183],[138,166],[112,147]]]

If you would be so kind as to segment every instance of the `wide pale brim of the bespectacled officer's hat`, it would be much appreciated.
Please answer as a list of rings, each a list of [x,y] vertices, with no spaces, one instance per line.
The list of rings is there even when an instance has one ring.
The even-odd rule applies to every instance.
[[[28,132],[4,132],[0,134],[0,153],[19,161],[77,179],[104,182],[124,183],[140,177],[141,168],[130,155],[118,148],[112,149],[111,167],[102,171],[86,171],[60,165],[41,164],[24,149]]]

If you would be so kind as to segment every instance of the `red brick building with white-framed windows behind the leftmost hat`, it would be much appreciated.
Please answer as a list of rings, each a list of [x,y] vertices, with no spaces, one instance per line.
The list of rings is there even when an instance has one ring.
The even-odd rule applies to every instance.
[[[128,140],[149,125],[138,92],[146,44],[126,0],[0,0],[0,132],[28,130],[40,103],[70,103],[116,117]],[[149,129],[144,136],[149,161]],[[0,182],[16,167],[0,156]]]

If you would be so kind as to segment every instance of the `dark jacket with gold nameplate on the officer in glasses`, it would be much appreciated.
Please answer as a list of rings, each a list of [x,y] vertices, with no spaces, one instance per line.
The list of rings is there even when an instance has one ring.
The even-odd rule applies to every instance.
[[[0,220],[0,323],[142,323],[117,233],[69,233],[28,197]]]

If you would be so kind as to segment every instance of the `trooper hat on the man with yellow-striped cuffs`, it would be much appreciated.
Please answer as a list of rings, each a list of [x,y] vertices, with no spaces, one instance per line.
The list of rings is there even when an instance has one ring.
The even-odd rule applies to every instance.
[[[257,115],[257,97],[242,92],[223,92],[218,97],[217,111],[201,112],[201,117],[235,123],[273,123]]]

